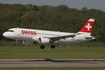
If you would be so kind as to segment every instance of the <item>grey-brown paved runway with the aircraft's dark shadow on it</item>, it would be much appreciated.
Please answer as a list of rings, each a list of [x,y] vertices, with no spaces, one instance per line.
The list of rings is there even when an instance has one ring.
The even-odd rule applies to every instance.
[[[0,59],[0,68],[105,67],[105,59]]]

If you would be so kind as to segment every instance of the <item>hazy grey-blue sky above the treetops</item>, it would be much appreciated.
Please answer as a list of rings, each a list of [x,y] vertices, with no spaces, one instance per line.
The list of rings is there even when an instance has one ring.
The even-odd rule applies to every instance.
[[[67,5],[69,8],[99,9],[105,11],[105,0],[0,0],[0,3],[8,4],[33,4],[33,5]]]

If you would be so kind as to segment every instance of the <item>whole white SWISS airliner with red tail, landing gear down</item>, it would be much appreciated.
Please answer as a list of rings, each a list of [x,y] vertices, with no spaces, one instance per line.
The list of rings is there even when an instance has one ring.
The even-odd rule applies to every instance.
[[[45,44],[51,43],[51,48],[55,48],[54,43],[77,43],[95,39],[91,36],[94,19],[89,19],[86,24],[77,33],[46,31],[26,28],[11,28],[3,33],[3,36],[9,39],[23,40],[26,45],[39,43],[41,49]]]

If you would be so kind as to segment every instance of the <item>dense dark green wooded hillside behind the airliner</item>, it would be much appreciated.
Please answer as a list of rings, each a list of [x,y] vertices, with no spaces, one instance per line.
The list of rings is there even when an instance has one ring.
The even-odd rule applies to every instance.
[[[25,27],[66,32],[78,32],[89,18],[95,18],[93,36],[96,41],[105,41],[105,12],[86,7],[78,10],[66,5],[21,5],[0,3],[0,39],[9,28]]]

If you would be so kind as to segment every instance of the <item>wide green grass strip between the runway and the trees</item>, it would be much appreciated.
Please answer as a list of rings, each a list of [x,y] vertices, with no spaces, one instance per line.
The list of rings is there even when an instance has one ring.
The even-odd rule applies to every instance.
[[[42,50],[39,46],[1,46],[0,58],[105,58],[105,47],[59,46]]]

